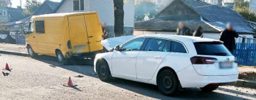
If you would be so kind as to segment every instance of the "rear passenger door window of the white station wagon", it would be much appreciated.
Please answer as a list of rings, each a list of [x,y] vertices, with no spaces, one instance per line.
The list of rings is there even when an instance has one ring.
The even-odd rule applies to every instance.
[[[164,48],[166,40],[159,38],[150,38],[149,42],[146,43],[145,51],[161,51]]]

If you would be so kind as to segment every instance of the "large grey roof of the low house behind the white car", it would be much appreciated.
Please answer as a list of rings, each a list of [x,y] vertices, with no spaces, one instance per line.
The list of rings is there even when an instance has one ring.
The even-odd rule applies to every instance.
[[[255,33],[255,29],[252,28],[249,24],[247,24],[245,21],[247,21],[245,18],[243,18],[238,12],[234,11],[233,9],[230,9],[226,6],[219,6],[216,4],[208,4],[206,2],[202,1],[196,1],[196,0],[174,0],[174,1],[182,1],[183,4],[186,4],[189,8],[191,8],[193,11],[198,13],[199,16],[201,16],[201,21],[193,21],[193,25],[188,25],[188,28],[190,26],[195,26],[198,24],[206,25],[206,28],[204,30],[208,32],[220,32],[221,30],[225,29],[225,23],[231,21],[235,23],[235,30],[238,33]],[[169,6],[174,3],[172,1]],[[169,6],[166,7],[166,9],[169,8]],[[155,30],[165,30],[165,27],[169,27],[172,24],[169,23],[170,21],[163,21],[159,20],[159,17],[161,17],[160,13],[164,11],[165,9],[159,11],[156,18],[149,20],[149,21],[141,21],[135,23],[135,29],[142,29],[142,30],[148,30],[148,29],[155,29]],[[177,17],[178,18],[178,17]],[[191,20],[187,20],[191,21]],[[155,26],[149,26],[149,23],[155,23]],[[160,24],[160,25],[156,25]],[[165,24],[164,24],[165,23]],[[167,24],[169,23],[169,24]],[[177,23],[176,21],[172,23]],[[203,26],[204,26],[203,25]],[[149,28],[150,27],[150,28]],[[211,27],[211,28],[210,28]],[[174,26],[174,28],[177,28]],[[193,28],[191,28],[193,30]],[[173,30],[173,29],[167,29],[167,30]]]

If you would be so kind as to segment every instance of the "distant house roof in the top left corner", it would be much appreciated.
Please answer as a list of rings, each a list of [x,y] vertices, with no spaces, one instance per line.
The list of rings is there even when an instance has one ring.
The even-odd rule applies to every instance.
[[[22,14],[22,9],[18,9],[18,8],[10,8],[10,7],[5,7],[8,10],[8,14],[11,16],[9,18],[9,21],[19,21],[21,19],[23,19],[25,16],[23,16]]]

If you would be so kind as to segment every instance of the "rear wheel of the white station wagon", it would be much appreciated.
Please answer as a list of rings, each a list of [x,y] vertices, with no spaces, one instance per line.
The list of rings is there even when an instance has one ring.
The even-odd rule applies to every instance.
[[[164,70],[157,77],[157,86],[161,94],[174,96],[178,92],[178,77],[173,71]]]

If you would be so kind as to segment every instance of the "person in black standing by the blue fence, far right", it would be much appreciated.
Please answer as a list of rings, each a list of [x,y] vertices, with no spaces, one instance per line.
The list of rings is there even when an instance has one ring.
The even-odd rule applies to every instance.
[[[225,30],[220,33],[220,40],[223,41],[224,45],[230,52],[235,50],[235,38],[238,38],[238,33],[235,32],[233,23],[228,23]]]

